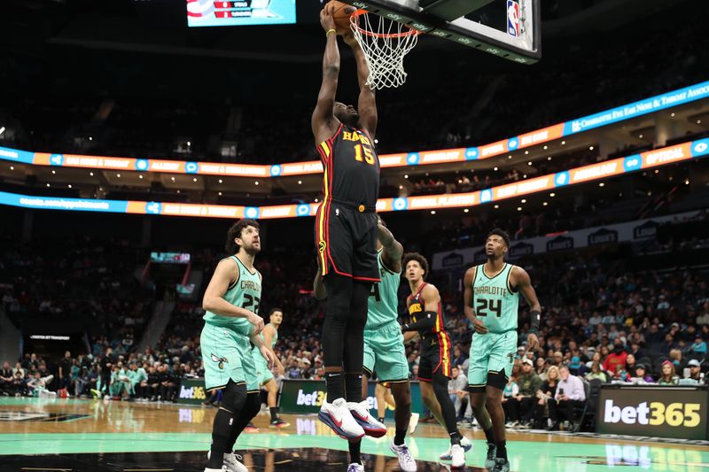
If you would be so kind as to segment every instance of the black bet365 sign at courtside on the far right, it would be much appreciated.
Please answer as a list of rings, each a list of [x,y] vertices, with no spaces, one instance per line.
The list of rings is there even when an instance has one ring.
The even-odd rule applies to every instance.
[[[604,387],[597,431],[651,437],[707,439],[705,387]]]

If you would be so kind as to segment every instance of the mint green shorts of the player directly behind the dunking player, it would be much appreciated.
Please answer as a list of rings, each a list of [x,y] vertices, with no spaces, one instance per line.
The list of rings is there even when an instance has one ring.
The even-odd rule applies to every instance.
[[[379,382],[409,380],[409,363],[399,323],[392,321],[378,329],[364,330],[364,370],[377,374]]]

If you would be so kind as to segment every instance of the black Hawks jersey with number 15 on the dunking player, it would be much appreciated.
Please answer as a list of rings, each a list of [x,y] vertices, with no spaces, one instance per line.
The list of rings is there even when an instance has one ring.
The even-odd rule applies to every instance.
[[[379,158],[369,133],[340,124],[338,132],[317,146],[323,159],[324,201],[374,211],[379,197]],[[362,212],[363,209],[360,210]]]

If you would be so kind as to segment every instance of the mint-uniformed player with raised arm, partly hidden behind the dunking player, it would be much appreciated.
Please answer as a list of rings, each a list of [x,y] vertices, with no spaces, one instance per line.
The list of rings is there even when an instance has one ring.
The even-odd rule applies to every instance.
[[[380,383],[391,385],[396,412],[394,419],[396,432],[389,447],[399,458],[399,465],[404,472],[415,472],[416,461],[409,453],[409,447],[404,443],[409,418],[411,417],[411,388],[409,386],[409,363],[404,351],[404,339],[397,322],[399,305],[398,291],[401,282],[401,254],[403,246],[394,239],[384,221],[378,221],[377,263],[381,282],[374,283],[370,293],[367,313],[367,325],[364,328],[364,361],[362,370],[362,396],[366,396],[368,379],[377,372]],[[325,290],[316,276],[316,297],[323,298]],[[386,403],[385,403],[386,406]],[[381,437],[386,434],[386,427],[378,424],[381,429],[372,431],[370,436]],[[351,462],[359,466],[360,440],[350,441]],[[348,468],[348,470],[350,470]],[[361,469],[360,469],[361,470]]]

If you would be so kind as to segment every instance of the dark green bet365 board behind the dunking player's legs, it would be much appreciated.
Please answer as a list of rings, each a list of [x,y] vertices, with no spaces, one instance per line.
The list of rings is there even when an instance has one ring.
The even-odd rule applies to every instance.
[[[370,382],[367,395],[371,413],[377,416],[377,398],[374,396],[375,383]],[[282,413],[309,414],[320,411],[325,399],[325,381],[323,380],[290,380],[284,379],[281,384],[281,395],[278,406]],[[418,381],[411,382],[411,411],[424,413],[421,402],[421,390]],[[386,406],[386,418],[393,418],[393,407]]]

